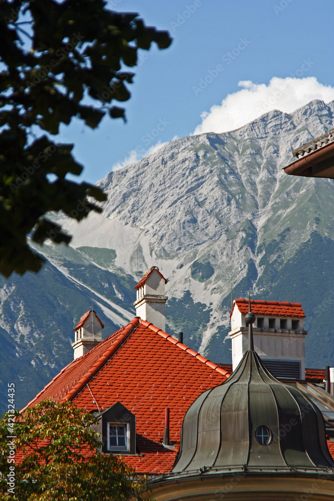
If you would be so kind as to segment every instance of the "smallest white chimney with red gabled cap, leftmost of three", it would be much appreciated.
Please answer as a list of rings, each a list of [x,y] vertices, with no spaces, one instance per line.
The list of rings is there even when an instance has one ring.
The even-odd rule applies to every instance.
[[[82,357],[102,341],[103,323],[94,310],[89,310],[80,319],[74,330],[74,360]]]

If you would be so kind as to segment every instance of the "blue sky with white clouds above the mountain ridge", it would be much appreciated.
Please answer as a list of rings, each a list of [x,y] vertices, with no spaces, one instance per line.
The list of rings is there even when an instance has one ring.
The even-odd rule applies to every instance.
[[[147,26],[169,31],[173,42],[163,51],[140,52],[124,103],[126,124],[106,118],[94,131],[79,121],[62,127],[85,167],[81,179],[96,182],[174,137],[231,130],[269,109],[289,112],[310,99],[334,99],[332,0],[108,5],[138,12]]]

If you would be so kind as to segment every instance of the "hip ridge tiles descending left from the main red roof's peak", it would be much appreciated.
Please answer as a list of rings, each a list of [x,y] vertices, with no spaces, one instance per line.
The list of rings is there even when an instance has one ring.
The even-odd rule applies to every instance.
[[[99,360],[88,372],[86,372],[86,374],[77,382],[72,390],[69,391],[69,393],[65,395],[64,398],[62,398],[61,402],[65,402],[66,400],[72,401],[77,395],[79,395],[86,384],[89,383],[93,379],[93,377],[95,377],[97,373],[102,369],[102,367],[104,367],[105,364],[112,358],[112,356],[115,355],[118,349],[123,345],[124,341],[128,339],[130,334],[134,332],[138,325],[139,319],[138,317],[135,317],[133,320],[131,320],[131,322],[124,326],[117,338],[108,347],[108,350],[104,352]]]

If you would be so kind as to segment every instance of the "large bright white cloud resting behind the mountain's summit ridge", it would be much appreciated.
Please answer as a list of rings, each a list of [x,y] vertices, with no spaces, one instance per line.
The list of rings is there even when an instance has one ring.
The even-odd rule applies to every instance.
[[[334,87],[320,84],[315,77],[273,77],[268,85],[250,80],[238,83],[241,90],[228,94],[221,105],[214,105],[201,114],[202,123],[194,134],[227,132],[237,129],[270,110],[291,113],[312,99],[325,103],[334,99]]]

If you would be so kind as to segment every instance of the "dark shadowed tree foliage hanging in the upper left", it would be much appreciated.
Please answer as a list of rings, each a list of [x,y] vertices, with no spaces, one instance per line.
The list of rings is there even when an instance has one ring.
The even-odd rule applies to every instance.
[[[0,273],[38,271],[43,259],[27,235],[43,243],[71,239],[46,217],[63,210],[81,220],[105,194],[66,179],[82,166],[73,144],[56,144],[60,124],[77,117],[91,128],[125,119],[126,84],[138,49],[168,47],[167,32],[137,14],[107,10],[105,0],[0,0]],[[45,132],[45,133],[44,133]],[[47,133],[47,134],[46,134]],[[42,135],[44,134],[44,135]]]

